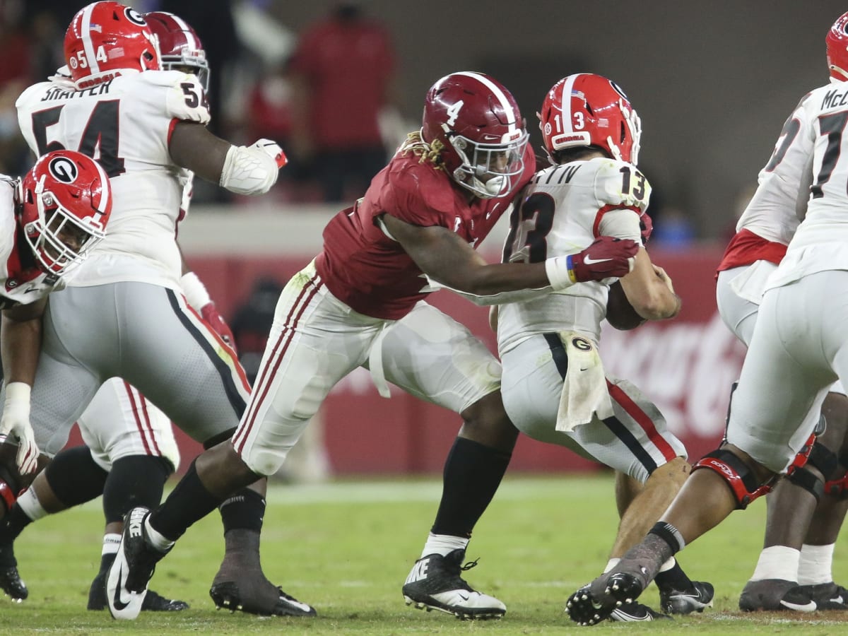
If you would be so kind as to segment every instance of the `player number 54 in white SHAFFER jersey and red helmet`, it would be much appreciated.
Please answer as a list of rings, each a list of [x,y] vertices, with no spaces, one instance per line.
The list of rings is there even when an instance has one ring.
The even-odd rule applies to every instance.
[[[215,445],[232,436],[249,387],[232,349],[182,295],[175,232],[183,169],[260,194],[276,181],[282,149],[212,135],[198,77],[160,70],[156,38],[129,7],[82,8],[64,50],[71,81],[28,88],[16,103],[21,130],[37,152],[77,148],[114,175],[116,229],[47,309],[32,395],[36,441],[56,453],[99,386],[123,377],[192,438]],[[314,616],[261,571],[264,493],[260,480],[221,505],[226,554],[210,594],[233,610]]]

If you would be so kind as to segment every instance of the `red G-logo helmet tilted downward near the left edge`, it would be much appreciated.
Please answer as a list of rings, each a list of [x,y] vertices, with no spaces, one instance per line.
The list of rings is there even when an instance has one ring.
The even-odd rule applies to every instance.
[[[103,168],[82,153],[43,155],[20,181],[20,225],[43,271],[66,274],[105,236],[112,189]]]

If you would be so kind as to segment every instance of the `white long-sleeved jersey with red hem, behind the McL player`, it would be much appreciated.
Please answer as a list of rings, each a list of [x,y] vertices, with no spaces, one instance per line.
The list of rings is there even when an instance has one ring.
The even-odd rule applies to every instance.
[[[798,133],[810,123],[811,112],[805,107],[809,96],[808,93],[795,107],[780,131],[772,157],[760,170],[756,192],[739,217],[736,235],[725,249],[718,271],[750,265],[757,260],[778,264],[786,254],[806,202],[806,194],[801,193],[799,199],[799,191],[807,159],[812,154],[812,140],[799,137]]]

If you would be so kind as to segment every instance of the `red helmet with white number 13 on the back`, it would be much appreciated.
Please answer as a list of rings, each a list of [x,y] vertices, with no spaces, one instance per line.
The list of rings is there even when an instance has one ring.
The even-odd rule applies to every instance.
[[[639,115],[615,82],[601,75],[578,73],[551,87],[539,114],[544,148],[597,146],[613,159],[639,160]]]

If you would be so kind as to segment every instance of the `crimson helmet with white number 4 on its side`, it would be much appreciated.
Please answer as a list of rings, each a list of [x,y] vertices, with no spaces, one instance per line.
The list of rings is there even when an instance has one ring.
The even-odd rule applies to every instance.
[[[518,104],[499,81],[483,73],[452,73],[432,85],[421,138],[441,143],[445,170],[480,198],[510,192],[524,169],[528,135]]]

